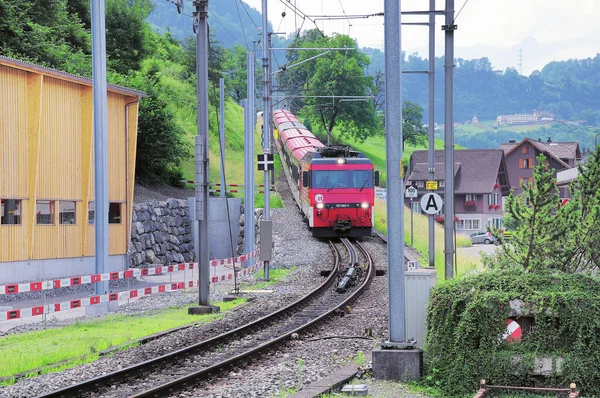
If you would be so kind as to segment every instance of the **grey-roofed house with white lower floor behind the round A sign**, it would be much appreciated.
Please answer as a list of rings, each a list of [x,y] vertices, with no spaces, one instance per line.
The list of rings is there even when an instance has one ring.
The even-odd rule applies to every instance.
[[[434,179],[437,193],[444,196],[444,151],[435,151]],[[406,185],[417,188],[413,210],[421,212],[419,200],[428,191],[427,151],[415,151],[410,157]],[[502,227],[503,200],[509,193],[504,152],[499,149],[465,149],[454,152],[454,204],[456,230],[471,232],[487,226]],[[416,202],[416,203],[415,203]],[[410,200],[405,200],[410,204]],[[444,214],[444,209],[440,215]]]

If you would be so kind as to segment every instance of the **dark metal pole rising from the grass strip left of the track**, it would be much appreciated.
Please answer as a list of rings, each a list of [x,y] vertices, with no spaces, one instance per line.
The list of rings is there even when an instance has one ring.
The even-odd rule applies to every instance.
[[[198,134],[195,137],[195,219],[198,222],[198,306],[188,313],[218,311],[210,305],[210,264],[208,261],[208,0],[195,0],[196,92]]]

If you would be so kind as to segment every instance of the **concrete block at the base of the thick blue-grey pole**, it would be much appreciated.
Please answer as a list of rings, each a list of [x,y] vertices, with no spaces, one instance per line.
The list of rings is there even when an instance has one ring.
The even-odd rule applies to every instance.
[[[417,381],[421,378],[423,351],[419,349],[373,350],[373,377],[380,380]]]

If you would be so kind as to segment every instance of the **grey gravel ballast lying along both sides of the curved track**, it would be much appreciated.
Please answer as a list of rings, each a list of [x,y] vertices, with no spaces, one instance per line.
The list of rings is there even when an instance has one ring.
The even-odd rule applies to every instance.
[[[319,271],[324,266],[329,266],[331,262],[328,245],[310,236],[287,186],[280,182],[278,190],[284,199],[285,208],[272,209],[271,212],[275,241],[274,258],[271,264],[274,268],[296,266],[296,270],[290,275],[288,281],[273,287],[275,293],[254,296],[244,294],[245,297],[255,297],[255,299],[218,321],[170,334],[148,344],[118,352],[114,356],[101,358],[94,363],[19,381],[13,386],[0,388],[0,397],[37,396],[162,355],[192,341],[206,339],[270,313],[318,285],[321,282]],[[373,256],[375,265],[378,268],[385,268],[386,247],[381,240],[365,238],[362,242]],[[252,284],[254,277],[248,277],[247,282]],[[217,286],[211,296],[215,301],[231,289],[231,285]],[[120,307],[119,312],[151,311],[172,305],[193,303],[196,298],[197,290],[174,295],[149,296]],[[302,334],[298,340],[281,346],[268,358],[248,368],[233,370],[225,379],[197,389],[189,396],[288,396],[302,386],[329,376],[336,368],[350,363],[359,351],[369,352],[378,341],[387,338],[387,327],[387,278],[380,276],[375,277],[370,288],[354,303],[349,314],[324,323],[310,333]],[[20,333],[37,328],[40,328],[40,324],[24,325],[11,332]],[[366,328],[371,328],[372,336],[365,335]],[[336,337],[330,338],[331,336]],[[368,383],[368,379],[363,382]],[[408,394],[399,383],[382,382],[373,383],[370,396],[423,397]]]

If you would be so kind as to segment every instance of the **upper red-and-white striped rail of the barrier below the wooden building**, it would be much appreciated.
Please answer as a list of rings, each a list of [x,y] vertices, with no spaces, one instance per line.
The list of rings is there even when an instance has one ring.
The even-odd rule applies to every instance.
[[[210,265],[216,267],[219,265],[230,265],[240,263],[250,258],[257,257],[259,253],[260,251],[257,249],[251,253],[244,254],[238,257],[211,260]],[[125,271],[74,276],[71,278],[51,279],[46,281],[11,283],[8,285],[0,285],[0,295],[35,292],[39,290],[60,289],[61,287],[77,286],[84,283],[114,281],[117,279],[136,278],[140,276],[162,275],[169,272],[193,270],[198,268],[198,263],[181,263],[174,265],[165,265],[160,267],[130,268]]]

